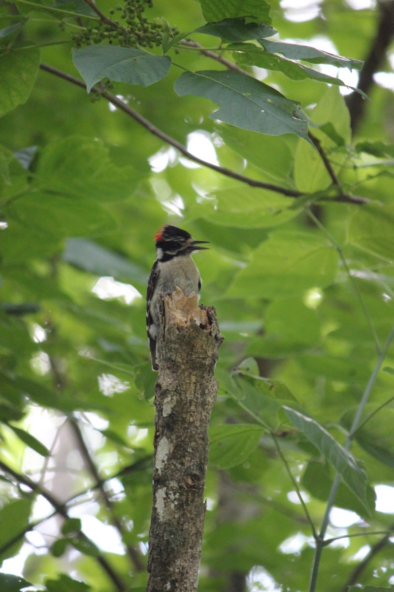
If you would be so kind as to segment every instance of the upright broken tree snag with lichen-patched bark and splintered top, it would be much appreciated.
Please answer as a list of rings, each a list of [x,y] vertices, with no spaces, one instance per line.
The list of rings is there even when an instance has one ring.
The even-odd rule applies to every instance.
[[[208,424],[220,335],[213,307],[177,288],[162,297],[155,386],[153,507],[147,592],[197,590]]]

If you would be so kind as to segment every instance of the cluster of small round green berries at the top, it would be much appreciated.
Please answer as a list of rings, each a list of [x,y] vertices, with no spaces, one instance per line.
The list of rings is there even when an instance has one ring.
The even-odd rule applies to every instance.
[[[122,21],[100,20],[90,22],[80,33],[72,36],[76,47],[107,41],[109,44],[123,47],[154,47],[163,42],[166,27],[161,20],[149,21],[143,16],[145,8],[152,8],[152,0],[125,0],[125,4],[110,9],[111,17],[120,13]],[[171,27],[172,36],[178,33],[177,27]]]

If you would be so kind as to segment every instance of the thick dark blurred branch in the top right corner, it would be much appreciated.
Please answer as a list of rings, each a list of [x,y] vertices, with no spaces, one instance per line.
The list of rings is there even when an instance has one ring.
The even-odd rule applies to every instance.
[[[386,52],[394,36],[394,0],[381,0],[378,2],[378,6],[379,21],[377,22],[376,36],[364,61],[358,84],[359,89],[366,94],[373,86],[373,75],[386,59]],[[346,104],[350,112],[351,129],[354,133],[362,121],[366,101],[358,92],[352,92],[346,97]]]

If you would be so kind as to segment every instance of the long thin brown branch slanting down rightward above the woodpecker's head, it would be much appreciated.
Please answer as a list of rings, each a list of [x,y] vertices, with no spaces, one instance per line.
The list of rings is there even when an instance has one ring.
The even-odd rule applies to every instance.
[[[45,72],[49,72],[50,74],[59,76],[59,78],[63,78],[64,80],[67,80],[68,82],[71,82],[74,85],[77,85],[80,88],[86,90],[86,85],[84,84],[84,82],[80,81],[75,76],[68,74],[67,72],[63,72],[62,70],[58,70],[56,67],[49,66],[48,64],[44,63],[40,64],[40,68]],[[152,124],[149,120],[145,119],[145,117],[143,117],[137,111],[134,111],[131,107],[129,107],[129,105],[123,102],[122,99],[119,99],[118,96],[113,95],[111,92],[108,92],[106,90],[101,90],[97,88],[97,86],[93,86],[91,92],[95,92],[96,94],[102,95],[107,101],[115,105],[115,107],[118,107],[123,112],[132,117],[135,121],[137,121],[139,124],[141,124],[141,126],[145,127],[148,131],[151,132],[151,134],[157,136],[159,139],[165,141],[167,144],[170,144],[170,146],[176,148],[183,156],[187,157],[189,160],[193,160],[193,162],[197,162],[199,165],[206,166],[207,168],[212,170],[216,170],[216,172],[220,173],[221,175],[225,175],[232,179],[236,179],[236,181],[241,181],[242,183],[246,183],[251,187],[268,189],[268,191],[274,191],[276,193],[286,195],[286,197],[297,198],[301,197],[302,195],[305,195],[305,193],[302,191],[297,191],[296,189],[288,189],[285,187],[281,187],[279,185],[273,185],[271,183],[266,183],[265,181],[257,181],[256,179],[252,179],[248,176],[240,175],[239,173],[236,173],[231,169],[226,169],[223,166],[213,165],[212,163],[207,162],[207,160],[198,158],[198,156],[194,156],[191,152],[189,152],[187,148],[183,146],[183,144],[178,142],[178,140],[175,140],[171,136],[168,136],[168,134],[160,130],[158,127],[154,126],[154,124]],[[350,194],[340,194],[337,198],[334,198],[334,200],[347,202],[349,204],[366,204],[370,201],[366,198],[360,197],[359,195]],[[330,198],[330,200],[328,201],[333,201],[333,199]]]

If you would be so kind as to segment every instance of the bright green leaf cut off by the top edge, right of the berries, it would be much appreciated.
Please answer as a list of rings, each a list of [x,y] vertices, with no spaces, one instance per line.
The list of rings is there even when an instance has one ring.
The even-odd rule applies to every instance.
[[[250,22],[271,24],[269,17],[271,6],[265,0],[200,0],[200,4],[207,22],[249,16]]]

